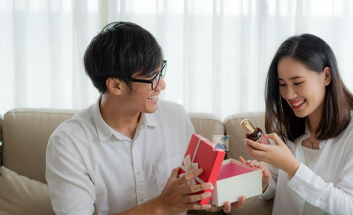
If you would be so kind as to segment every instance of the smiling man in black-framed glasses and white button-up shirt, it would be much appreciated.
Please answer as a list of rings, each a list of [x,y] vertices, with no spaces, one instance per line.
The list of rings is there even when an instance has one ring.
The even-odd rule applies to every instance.
[[[101,96],[49,140],[46,178],[55,213],[176,215],[210,209],[196,202],[209,192],[188,194],[212,184],[185,184],[202,170],[178,178],[175,167],[194,129],[181,105],[158,101],[167,61],[155,38],[133,23],[111,23],[91,41],[84,66]]]

